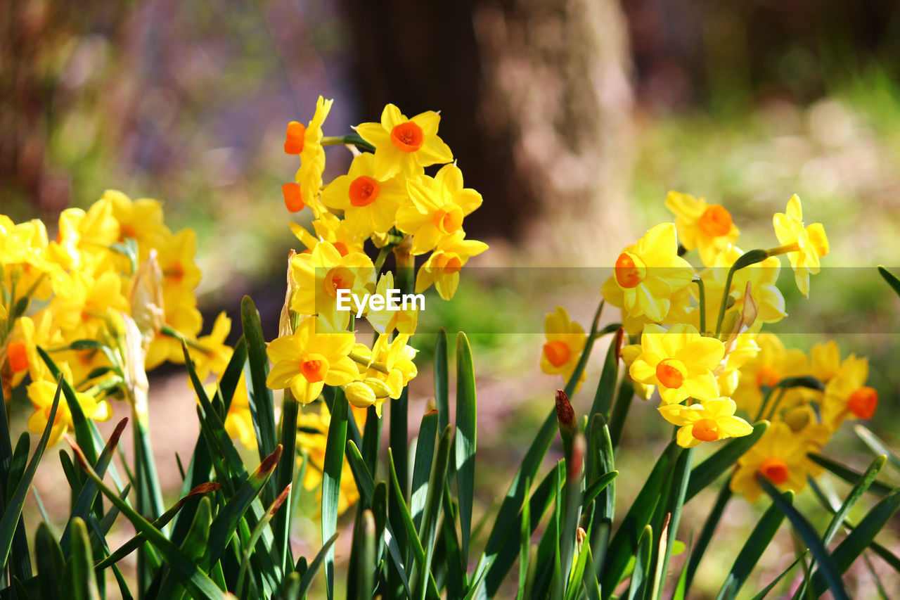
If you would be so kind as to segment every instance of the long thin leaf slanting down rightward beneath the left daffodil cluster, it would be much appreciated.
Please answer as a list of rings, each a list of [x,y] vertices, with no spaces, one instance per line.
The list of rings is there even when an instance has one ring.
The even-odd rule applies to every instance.
[[[175,547],[175,544],[168,541],[166,536],[157,530],[152,523],[148,523],[146,519],[136,513],[134,509],[116,495],[112,489],[103,484],[103,480],[94,473],[94,469],[87,463],[85,455],[77,444],[71,441],[70,443],[87,477],[94,481],[96,486],[100,488],[100,491],[103,492],[103,495],[109,498],[110,502],[121,511],[121,514],[134,525],[135,529],[142,532],[147,537],[147,540],[166,557],[166,564],[172,568],[173,572],[183,581],[188,590],[195,597],[220,600],[222,590],[192,560],[185,557],[182,551]]]

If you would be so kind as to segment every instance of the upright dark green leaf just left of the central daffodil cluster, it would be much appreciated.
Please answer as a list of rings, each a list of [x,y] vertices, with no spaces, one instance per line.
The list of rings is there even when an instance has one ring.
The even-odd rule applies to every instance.
[[[272,390],[266,387],[269,374],[269,359],[266,356],[266,338],[259,323],[257,306],[250,296],[240,301],[240,322],[247,341],[247,400],[253,417],[253,428],[257,432],[259,459],[263,460],[275,450],[275,404]]]

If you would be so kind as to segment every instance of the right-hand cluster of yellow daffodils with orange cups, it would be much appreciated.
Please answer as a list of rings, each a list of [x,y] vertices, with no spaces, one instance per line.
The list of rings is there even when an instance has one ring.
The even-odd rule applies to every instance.
[[[807,454],[845,419],[868,419],[878,405],[878,393],[865,385],[866,359],[842,360],[835,341],[807,357],[761,331],[787,316],[778,257],[788,256],[808,295],[809,275],[828,253],[824,228],[803,223],[795,195],[773,218],[779,246],[744,252],[722,205],[670,192],[666,206],[674,223],[654,226],[622,250],[601,290],[635,341],[621,351],[626,377],[645,399],[658,390],[659,412],[677,426],[684,448],[749,435],[750,423],[769,420],[731,486],[751,501],[760,495],[759,476],[799,490],[818,473]],[[690,250],[698,250],[701,268],[683,258]],[[586,339],[581,326],[558,307],[547,315],[545,334],[542,369],[572,377]]]

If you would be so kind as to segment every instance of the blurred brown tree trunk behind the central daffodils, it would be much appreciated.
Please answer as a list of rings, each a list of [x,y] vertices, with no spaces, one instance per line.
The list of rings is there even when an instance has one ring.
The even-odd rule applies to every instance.
[[[362,114],[442,111],[482,208],[472,237],[535,264],[601,264],[622,242],[632,90],[618,0],[345,0]]]

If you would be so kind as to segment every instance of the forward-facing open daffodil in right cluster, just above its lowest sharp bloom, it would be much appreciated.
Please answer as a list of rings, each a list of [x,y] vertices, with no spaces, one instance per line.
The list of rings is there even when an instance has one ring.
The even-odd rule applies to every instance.
[[[668,332],[659,325],[647,325],[641,335],[641,354],[628,372],[639,383],[659,386],[666,404],[689,397],[713,400],[719,395],[713,369],[724,355],[721,341],[701,336],[690,325],[672,325]]]

